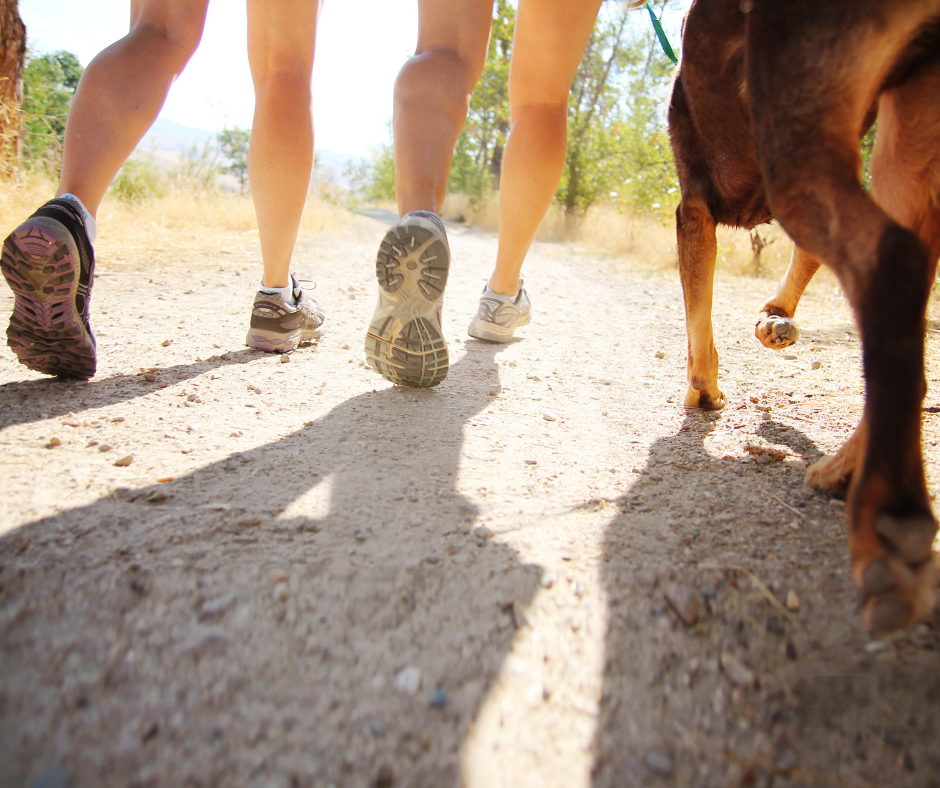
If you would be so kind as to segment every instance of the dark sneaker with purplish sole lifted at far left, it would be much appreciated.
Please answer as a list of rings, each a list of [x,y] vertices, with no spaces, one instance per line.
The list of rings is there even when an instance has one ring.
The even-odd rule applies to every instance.
[[[81,209],[71,200],[47,202],[7,236],[0,269],[16,297],[7,344],[20,363],[64,378],[94,375],[95,250]]]

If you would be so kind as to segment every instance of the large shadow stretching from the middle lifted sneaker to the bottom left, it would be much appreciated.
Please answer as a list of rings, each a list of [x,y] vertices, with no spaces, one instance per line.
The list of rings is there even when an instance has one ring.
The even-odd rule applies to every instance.
[[[470,534],[488,395],[464,388],[363,394],[0,539],[0,784],[51,760],[76,784],[459,785],[539,582]]]

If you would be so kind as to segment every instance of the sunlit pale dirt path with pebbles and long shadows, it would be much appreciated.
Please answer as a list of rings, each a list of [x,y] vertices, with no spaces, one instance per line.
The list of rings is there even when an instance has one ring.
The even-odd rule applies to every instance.
[[[287,363],[242,346],[237,233],[101,244],[88,383],[0,351],[0,785],[940,785],[940,623],[870,643],[802,485],[862,406],[831,280],[775,354],[772,283],[719,278],[729,405],[687,411],[674,271],[537,245],[484,344],[495,238],[455,226],[415,391],[363,361],[384,228],[302,242],[329,333]]]

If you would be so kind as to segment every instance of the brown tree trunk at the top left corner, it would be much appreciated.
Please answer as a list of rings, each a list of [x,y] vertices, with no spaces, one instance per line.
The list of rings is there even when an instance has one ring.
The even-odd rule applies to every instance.
[[[0,0],[0,177],[9,176],[20,157],[26,26],[18,3]]]

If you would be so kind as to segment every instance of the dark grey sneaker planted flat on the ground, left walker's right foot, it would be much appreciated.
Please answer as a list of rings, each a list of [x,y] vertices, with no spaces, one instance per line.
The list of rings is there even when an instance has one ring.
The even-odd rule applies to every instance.
[[[251,323],[245,344],[269,353],[290,353],[301,342],[319,339],[326,315],[308,298],[297,277],[290,275],[295,304],[288,304],[279,293],[258,292],[251,308]]]

